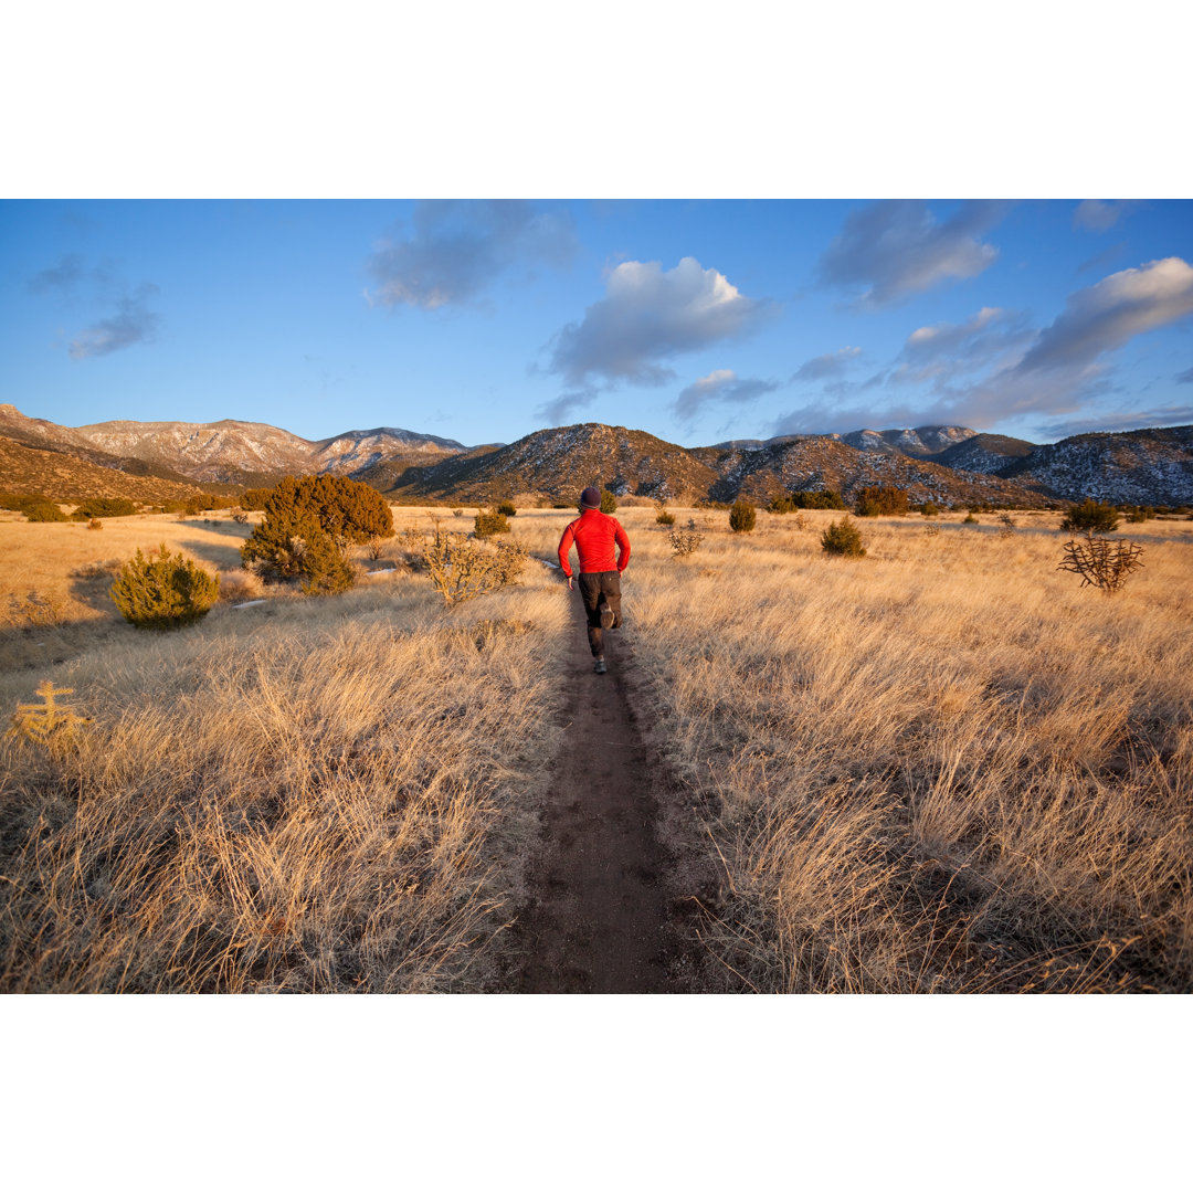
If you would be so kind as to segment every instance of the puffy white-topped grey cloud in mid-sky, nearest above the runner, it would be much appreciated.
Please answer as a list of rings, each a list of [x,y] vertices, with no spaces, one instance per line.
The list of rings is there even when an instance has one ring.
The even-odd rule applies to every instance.
[[[577,390],[662,385],[675,376],[666,360],[750,332],[766,311],[693,256],[667,271],[659,261],[623,261],[605,297],[556,333],[548,371]]]

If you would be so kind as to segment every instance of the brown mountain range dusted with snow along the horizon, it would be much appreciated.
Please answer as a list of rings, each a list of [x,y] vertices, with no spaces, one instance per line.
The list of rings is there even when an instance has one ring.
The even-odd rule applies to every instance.
[[[792,489],[888,484],[914,502],[1047,506],[1193,503],[1193,426],[1075,435],[1038,445],[968,427],[736,439],[681,447],[599,422],[536,431],[512,444],[376,427],[309,440],[260,422],[97,422],[63,427],[0,404],[0,489],[57,500],[267,486],[329,472],[394,501],[570,503],[585,484],[673,501],[766,501]],[[49,492],[52,489],[52,492]],[[101,492],[105,490],[106,492]],[[147,496],[150,492],[160,496]]]

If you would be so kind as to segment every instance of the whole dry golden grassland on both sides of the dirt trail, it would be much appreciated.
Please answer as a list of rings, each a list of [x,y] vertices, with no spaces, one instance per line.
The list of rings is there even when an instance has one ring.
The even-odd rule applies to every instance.
[[[237,573],[230,518],[0,524],[0,706],[48,684],[74,718],[0,742],[2,989],[508,988],[576,612],[526,554],[574,514],[524,509],[512,575],[451,600],[437,539],[502,551],[446,513],[400,511],[395,570],[320,599]],[[836,558],[832,507],[675,514],[619,515],[618,645],[701,989],[1193,989],[1193,524],[1133,528],[1105,600],[1058,513],[878,515]],[[163,537],[221,600],[141,635],[104,594]]]

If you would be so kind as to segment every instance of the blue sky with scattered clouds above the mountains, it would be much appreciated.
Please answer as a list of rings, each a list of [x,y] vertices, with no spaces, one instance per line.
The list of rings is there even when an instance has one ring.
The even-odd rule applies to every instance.
[[[1188,200],[0,204],[0,400],[466,444],[1193,422]]]

